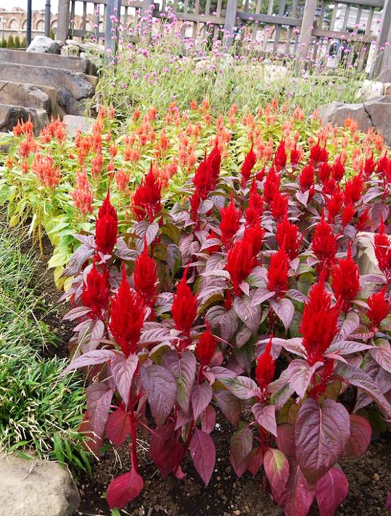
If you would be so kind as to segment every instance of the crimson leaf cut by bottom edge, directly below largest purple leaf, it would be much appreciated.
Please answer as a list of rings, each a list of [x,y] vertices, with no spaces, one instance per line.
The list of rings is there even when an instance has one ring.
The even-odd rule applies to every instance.
[[[348,495],[349,484],[344,473],[335,467],[316,482],[316,501],[320,516],[334,516]]]

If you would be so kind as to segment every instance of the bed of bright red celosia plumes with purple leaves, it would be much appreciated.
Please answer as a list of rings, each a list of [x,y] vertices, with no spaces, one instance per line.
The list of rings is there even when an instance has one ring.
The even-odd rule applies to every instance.
[[[152,163],[126,219],[107,193],[95,231],[76,237],[64,298],[76,324],[67,371],[89,380],[82,431],[95,454],[106,438],[130,443],[110,507],[143,489],[141,432],[162,476],[185,478],[189,453],[208,484],[219,411],[237,476],[258,476],[260,489],[263,478],[288,516],[313,504],[333,515],[348,493],[338,461],[372,436],[362,409],[391,418],[391,161],[372,154],[372,136],[353,159],[329,154],[331,130],[306,157],[289,134],[266,158],[256,129],[227,145],[222,127],[166,197]],[[250,150],[234,163],[237,145]],[[347,180],[346,163],[359,172]],[[359,272],[362,230],[376,233],[377,274]]]

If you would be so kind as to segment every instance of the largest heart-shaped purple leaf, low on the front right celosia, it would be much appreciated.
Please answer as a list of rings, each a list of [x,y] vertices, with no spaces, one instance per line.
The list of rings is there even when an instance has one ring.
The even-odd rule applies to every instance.
[[[322,407],[307,398],[295,425],[296,457],[309,482],[316,482],[342,456],[351,434],[351,421],[342,403],[332,399]]]

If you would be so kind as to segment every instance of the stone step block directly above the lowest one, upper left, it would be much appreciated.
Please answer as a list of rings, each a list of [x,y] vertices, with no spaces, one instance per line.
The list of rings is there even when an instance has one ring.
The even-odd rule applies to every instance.
[[[45,109],[48,115],[64,115],[58,104],[56,88],[0,80],[0,104],[16,104],[26,108]]]

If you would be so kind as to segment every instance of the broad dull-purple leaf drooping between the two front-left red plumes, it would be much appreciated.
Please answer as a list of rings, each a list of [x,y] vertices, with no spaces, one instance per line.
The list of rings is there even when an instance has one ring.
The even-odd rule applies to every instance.
[[[152,364],[142,368],[141,380],[156,425],[164,425],[176,400],[175,378],[166,368]]]

